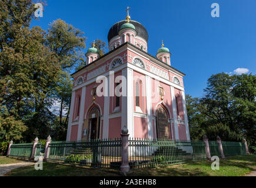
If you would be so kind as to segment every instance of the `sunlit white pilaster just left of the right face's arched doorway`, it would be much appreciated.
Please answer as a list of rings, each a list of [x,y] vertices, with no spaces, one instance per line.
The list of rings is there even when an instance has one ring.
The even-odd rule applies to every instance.
[[[152,124],[152,103],[151,103],[151,78],[146,75],[146,97],[147,97],[147,122],[148,122],[148,138],[153,139]]]

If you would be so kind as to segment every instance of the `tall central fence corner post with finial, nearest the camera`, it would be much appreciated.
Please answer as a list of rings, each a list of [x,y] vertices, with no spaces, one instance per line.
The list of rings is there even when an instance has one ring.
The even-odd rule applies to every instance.
[[[123,127],[121,133],[122,146],[121,146],[121,174],[126,174],[129,172],[129,134],[126,126]]]

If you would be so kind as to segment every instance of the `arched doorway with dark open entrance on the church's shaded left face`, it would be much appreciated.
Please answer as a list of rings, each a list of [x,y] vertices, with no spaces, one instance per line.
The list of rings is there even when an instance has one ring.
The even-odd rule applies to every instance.
[[[99,139],[100,116],[97,106],[89,111],[88,118],[84,120],[82,140]]]

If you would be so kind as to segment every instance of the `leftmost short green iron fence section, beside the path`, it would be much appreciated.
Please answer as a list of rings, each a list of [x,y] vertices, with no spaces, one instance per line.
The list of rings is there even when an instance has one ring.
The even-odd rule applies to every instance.
[[[19,143],[11,145],[9,156],[30,158],[33,149],[33,143]]]

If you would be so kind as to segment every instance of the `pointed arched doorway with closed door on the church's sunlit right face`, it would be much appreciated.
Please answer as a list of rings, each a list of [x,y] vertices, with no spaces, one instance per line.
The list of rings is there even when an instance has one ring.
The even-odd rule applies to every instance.
[[[162,106],[157,109],[155,120],[157,124],[157,138],[170,139],[168,115]]]

